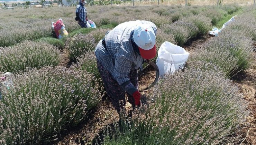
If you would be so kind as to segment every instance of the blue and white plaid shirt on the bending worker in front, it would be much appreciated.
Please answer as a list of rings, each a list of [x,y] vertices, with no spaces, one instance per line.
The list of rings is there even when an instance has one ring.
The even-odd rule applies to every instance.
[[[156,34],[156,26],[149,21],[129,21],[119,24],[106,36],[107,50],[98,43],[95,48],[95,55],[100,64],[104,66],[118,82],[119,85],[129,81],[128,75],[131,70],[142,67],[143,58],[134,51],[130,39],[131,31],[139,24],[148,24]]]

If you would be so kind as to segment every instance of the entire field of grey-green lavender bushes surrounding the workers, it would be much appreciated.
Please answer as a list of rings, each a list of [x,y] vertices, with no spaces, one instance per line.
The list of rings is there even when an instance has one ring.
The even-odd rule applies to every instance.
[[[75,7],[2,10],[0,144],[56,144],[61,133],[86,122],[106,96],[94,48],[106,31],[131,20],[157,26],[157,49],[164,41],[181,47],[205,37],[212,26],[238,14],[218,37],[195,48],[184,70],[167,75],[148,91],[132,117],[102,128],[85,143],[104,145],[240,144],[247,104],[233,83],[253,65],[256,7],[93,6],[97,28],[75,21]],[[51,22],[63,19],[68,36],[54,38]],[[157,56],[153,59],[155,61]],[[2,83],[4,80],[0,80]],[[155,101],[150,101],[154,99]],[[81,140],[83,140],[81,138]]]

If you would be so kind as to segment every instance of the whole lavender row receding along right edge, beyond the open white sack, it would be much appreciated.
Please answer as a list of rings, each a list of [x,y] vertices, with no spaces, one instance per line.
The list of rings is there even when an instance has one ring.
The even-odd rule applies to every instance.
[[[255,8],[238,17],[236,21],[223,29],[220,35],[211,39],[204,48],[196,51],[189,61],[207,61],[221,68],[225,76],[231,78],[239,71],[243,71],[252,62],[253,27],[256,24]],[[248,16],[248,17],[245,17]],[[248,23],[247,23],[248,22]]]

